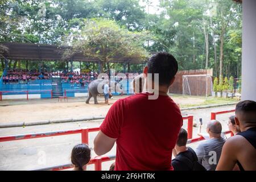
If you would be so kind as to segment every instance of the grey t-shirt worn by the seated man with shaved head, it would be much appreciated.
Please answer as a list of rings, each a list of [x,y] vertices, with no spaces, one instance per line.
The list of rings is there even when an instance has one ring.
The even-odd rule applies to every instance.
[[[197,146],[195,150],[197,158],[207,171],[216,169],[224,143],[225,139],[220,137],[208,139]]]

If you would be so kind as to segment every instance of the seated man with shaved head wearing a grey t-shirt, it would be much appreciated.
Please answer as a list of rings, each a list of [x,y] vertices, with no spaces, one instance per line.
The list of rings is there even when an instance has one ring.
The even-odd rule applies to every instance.
[[[209,121],[207,123],[209,139],[201,142],[195,150],[199,163],[208,171],[215,171],[218,160],[220,160],[222,147],[225,143],[225,139],[221,137],[221,130],[219,121]]]

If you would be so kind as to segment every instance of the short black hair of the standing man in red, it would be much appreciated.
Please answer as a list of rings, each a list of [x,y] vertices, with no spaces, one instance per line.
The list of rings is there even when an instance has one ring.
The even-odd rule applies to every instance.
[[[174,56],[167,52],[159,52],[151,56],[147,63],[148,73],[159,73],[159,85],[170,85],[171,79],[177,73],[178,65]]]

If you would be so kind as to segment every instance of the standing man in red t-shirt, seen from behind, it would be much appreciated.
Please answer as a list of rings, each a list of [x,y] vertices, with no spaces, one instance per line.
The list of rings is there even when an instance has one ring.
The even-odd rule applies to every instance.
[[[146,90],[116,101],[94,139],[94,151],[97,155],[106,154],[116,142],[115,170],[173,170],[172,149],[183,119],[167,93],[175,80],[177,61],[168,53],[157,53],[143,73],[145,82],[148,73],[159,73],[158,98],[148,99],[152,94]]]

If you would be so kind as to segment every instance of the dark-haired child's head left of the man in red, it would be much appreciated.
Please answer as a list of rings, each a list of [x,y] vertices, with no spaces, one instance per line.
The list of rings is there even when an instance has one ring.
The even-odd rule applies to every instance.
[[[87,144],[77,144],[71,153],[72,164],[82,171],[84,167],[90,161],[90,148]]]

